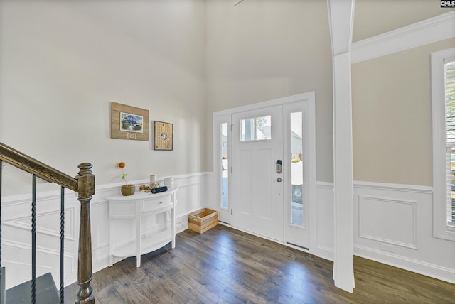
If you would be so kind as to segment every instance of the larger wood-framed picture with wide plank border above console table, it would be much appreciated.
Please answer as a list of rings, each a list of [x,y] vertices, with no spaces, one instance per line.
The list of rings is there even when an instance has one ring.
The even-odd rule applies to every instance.
[[[111,139],[149,141],[149,110],[112,102]]]

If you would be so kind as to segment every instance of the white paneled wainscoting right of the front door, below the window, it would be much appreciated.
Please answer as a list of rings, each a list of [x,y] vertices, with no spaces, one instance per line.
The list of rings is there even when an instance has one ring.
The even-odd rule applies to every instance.
[[[333,261],[333,183],[318,182],[317,255]],[[455,242],[432,236],[432,188],[354,182],[354,254],[455,283]]]

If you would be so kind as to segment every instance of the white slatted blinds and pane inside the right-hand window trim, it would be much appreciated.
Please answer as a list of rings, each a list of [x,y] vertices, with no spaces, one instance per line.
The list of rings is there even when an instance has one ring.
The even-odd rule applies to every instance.
[[[455,223],[455,61],[444,63],[446,97],[447,219]]]

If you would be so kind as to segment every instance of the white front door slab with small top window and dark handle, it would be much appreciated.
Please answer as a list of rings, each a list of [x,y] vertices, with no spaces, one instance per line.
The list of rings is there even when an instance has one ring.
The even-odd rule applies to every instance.
[[[232,226],[284,241],[282,105],[232,114]]]

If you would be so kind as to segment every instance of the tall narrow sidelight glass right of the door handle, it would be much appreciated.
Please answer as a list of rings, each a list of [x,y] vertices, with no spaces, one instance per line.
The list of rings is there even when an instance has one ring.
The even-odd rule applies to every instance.
[[[304,155],[302,112],[291,113],[291,223],[304,225]]]

